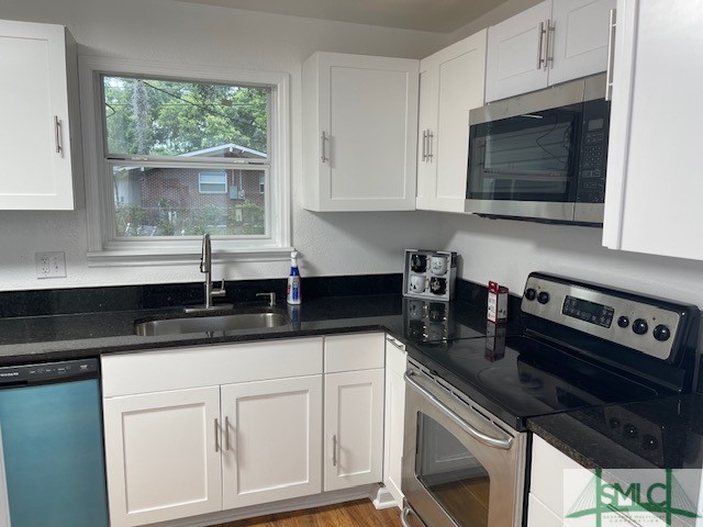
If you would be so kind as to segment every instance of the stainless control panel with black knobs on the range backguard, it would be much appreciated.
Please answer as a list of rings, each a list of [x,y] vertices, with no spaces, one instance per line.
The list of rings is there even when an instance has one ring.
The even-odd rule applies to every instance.
[[[661,304],[624,291],[531,274],[522,311],[667,360],[681,314]]]

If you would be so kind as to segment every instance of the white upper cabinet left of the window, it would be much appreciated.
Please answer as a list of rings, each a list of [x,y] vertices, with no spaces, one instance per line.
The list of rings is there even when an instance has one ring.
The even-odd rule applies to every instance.
[[[0,210],[71,210],[82,177],[76,45],[62,25],[0,21]]]

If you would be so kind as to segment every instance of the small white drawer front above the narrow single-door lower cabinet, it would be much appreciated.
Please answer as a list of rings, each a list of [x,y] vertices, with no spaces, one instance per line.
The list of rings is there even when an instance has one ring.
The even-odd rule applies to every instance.
[[[383,368],[384,349],[382,333],[325,337],[325,373]]]

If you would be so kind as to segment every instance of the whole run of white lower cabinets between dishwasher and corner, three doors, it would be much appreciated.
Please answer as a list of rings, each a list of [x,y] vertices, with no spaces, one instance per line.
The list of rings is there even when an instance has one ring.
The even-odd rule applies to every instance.
[[[380,483],[383,390],[382,333],[104,356],[110,525]]]

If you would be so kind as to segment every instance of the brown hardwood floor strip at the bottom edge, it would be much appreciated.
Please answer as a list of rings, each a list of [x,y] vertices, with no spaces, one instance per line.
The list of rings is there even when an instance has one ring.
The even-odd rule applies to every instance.
[[[368,500],[272,514],[213,527],[400,527],[400,509],[377,511]]]

